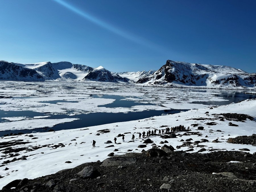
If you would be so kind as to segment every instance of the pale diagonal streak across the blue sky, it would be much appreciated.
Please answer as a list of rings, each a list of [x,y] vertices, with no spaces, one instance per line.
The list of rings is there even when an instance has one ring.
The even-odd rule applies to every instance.
[[[59,3],[60,5],[62,5],[63,7],[69,9],[70,11],[73,11],[74,13],[76,13],[77,15],[80,15],[82,16],[83,18],[85,18],[86,20],[98,25],[98,26],[101,26],[102,28],[104,29],[107,29],[123,38],[126,38],[132,42],[135,42],[137,44],[140,44],[140,45],[143,45],[143,46],[146,46],[148,48],[151,48],[151,49],[154,49],[160,53],[168,53],[169,51],[154,44],[153,42],[150,42],[148,40],[145,40],[139,36],[136,36],[136,35],[133,35],[133,34],[130,34],[128,32],[125,32],[121,29],[118,29],[117,27],[111,25],[111,24],[108,24],[107,22],[104,22],[88,13],[86,13],[85,11],[82,11],[76,7],[74,7],[73,5],[70,5],[69,3],[63,1],[63,0],[53,0],[57,3]],[[168,53],[170,54],[170,53]]]

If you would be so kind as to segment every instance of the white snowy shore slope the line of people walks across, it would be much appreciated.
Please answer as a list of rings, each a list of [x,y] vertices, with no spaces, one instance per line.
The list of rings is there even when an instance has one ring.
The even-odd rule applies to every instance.
[[[114,149],[118,149],[115,154],[127,153],[127,150],[131,152],[141,152],[141,148],[138,145],[143,143],[143,138],[138,139],[139,132],[147,132],[150,128],[152,129],[164,129],[167,125],[168,127],[184,125],[185,127],[190,126],[189,132],[178,132],[181,134],[177,138],[163,139],[156,136],[150,136],[149,138],[157,145],[161,141],[168,141],[168,145],[181,146],[184,142],[180,140],[192,139],[192,144],[190,146],[182,146],[178,151],[185,151],[193,148],[193,152],[197,152],[202,149],[197,146],[195,141],[201,141],[202,139],[207,139],[208,141],[201,143],[206,149],[203,153],[208,153],[210,150],[239,150],[242,148],[247,148],[249,153],[256,152],[256,147],[252,145],[245,144],[233,144],[227,143],[228,138],[236,137],[239,135],[252,135],[255,133],[256,121],[247,119],[246,121],[235,121],[234,119],[225,119],[220,121],[218,116],[214,114],[220,113],[245,113],[248,115],[256,117],[255,113],[256,100],[246,100],[236,104],[230,104],[226,106],[220,106],[217,108],[205,108],[198,110],[190,110],[187,112],[182,112],[178,114],[157,116],[154,118],[141,119],[139,121],[128,121],[120,123],[112,123],[107,125],[99,125],[94,127],[86,127],[82,129],[71,129],[62,130],[56,132],[45,132],[45,133],[33,133],[34,137],[28,137],[28,135],[17,135],[15,137],[3,137],[4,142],[29,142],[24,144],[13,145],[12,148],[17,150],[17,155],[13,157],[12,153],[4,153],[6,147],[1,148],[0,154],[2,159],[0,159],[0,164],[3,166],[0,169],[0,188],[4,185],[13,181],[15,179],[23,178],[36,178],[48,174],[53,174],[59,170],[73,168],[82,163],[86,162],[96,162],[97,160],[104,160],[108,158],[108,154],[113,152]],[[243,109],[241,111],[241,109]],[[206,114],[206,112],[209,112]],[[205,119],[205,120],[198,120]],[[216,125],[206,125],[210,122],[215,122]],[[197,123],[198,126],[203,126],[204,130],[198,130],[197,127],[193,127],[192,124]],[[229,123],[236,124],[238,126],[230,126]],[[108,129],[110,132],[104,133],[100,130]],[[100,133],[100,135],[96,135]],[[118,134],[125,134],[125,142],[122,142],[121,137],[117,137]],[[157,132],[158,133],[158,132]],[[184,134],[186,133],[186,134]],[[198,133],[202,137],[198,137]],[[132,135],[135,135],[135,141],[131,141]],[[205,138],[205,136],[208,136]],[[106,141],[110,140],[112,142],[114,137],[117,137],[117,143],[120,144],[105,144]],[[36,139],[33,139],[36,138]],[[220,143],[214,143],[212,141],[216,140]],[[92,147],[92,140],[96,141],[96,147]],[[108,147],[109,145],[114,145],[114,147]],[[144,150],[152,148],[151,144],[148,144]],[[136,150],[137,149],[137,150]],[[17,160],[26,156],[24,160]],[[16,160],[15,160],[16,159]],[[9,161],[8,161],[9,160]],[[65,163],[66,161],[71,161],[72,163]],[[5,163],[4,163],[5,162]],[[32,166],[33,165],[33,166]],[[8,170],[5,170],[8,168]],[[17,170],[17,171],[15,171]]]

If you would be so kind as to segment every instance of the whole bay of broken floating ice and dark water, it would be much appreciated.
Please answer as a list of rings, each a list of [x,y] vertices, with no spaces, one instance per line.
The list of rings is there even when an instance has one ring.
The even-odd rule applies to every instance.
[[[138,120],[252,98],[256,95],[242,90],[1,81],[0,136]]]

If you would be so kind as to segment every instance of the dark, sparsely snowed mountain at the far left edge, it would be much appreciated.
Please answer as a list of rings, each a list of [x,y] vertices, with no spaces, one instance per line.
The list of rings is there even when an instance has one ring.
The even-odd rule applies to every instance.
[[[21,67],[7,61],[0,61],[0,80],[44,81],[35,70]]]

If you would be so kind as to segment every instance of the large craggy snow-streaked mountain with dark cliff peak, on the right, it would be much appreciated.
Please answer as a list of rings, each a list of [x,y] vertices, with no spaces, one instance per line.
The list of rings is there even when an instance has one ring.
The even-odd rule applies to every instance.
[[[167,60],[159,70],[136,83],[205,87],[255,87],[256,73],[222,65],[202,65]]]

